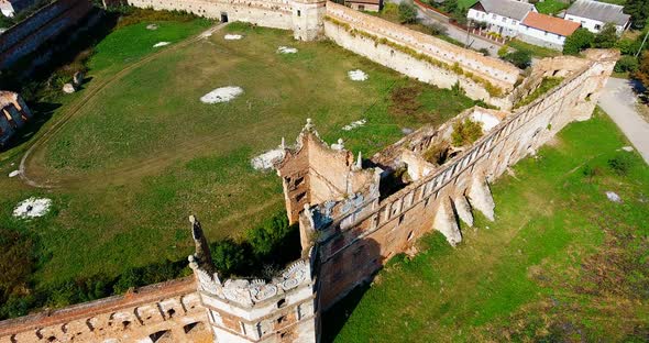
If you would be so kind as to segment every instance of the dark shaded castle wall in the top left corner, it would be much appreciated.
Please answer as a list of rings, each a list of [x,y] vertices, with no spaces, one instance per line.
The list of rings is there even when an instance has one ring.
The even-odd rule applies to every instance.
[[[0,69],[7,69],[48,40],[85,19],[88,0],[58,0],[0,34]]]

